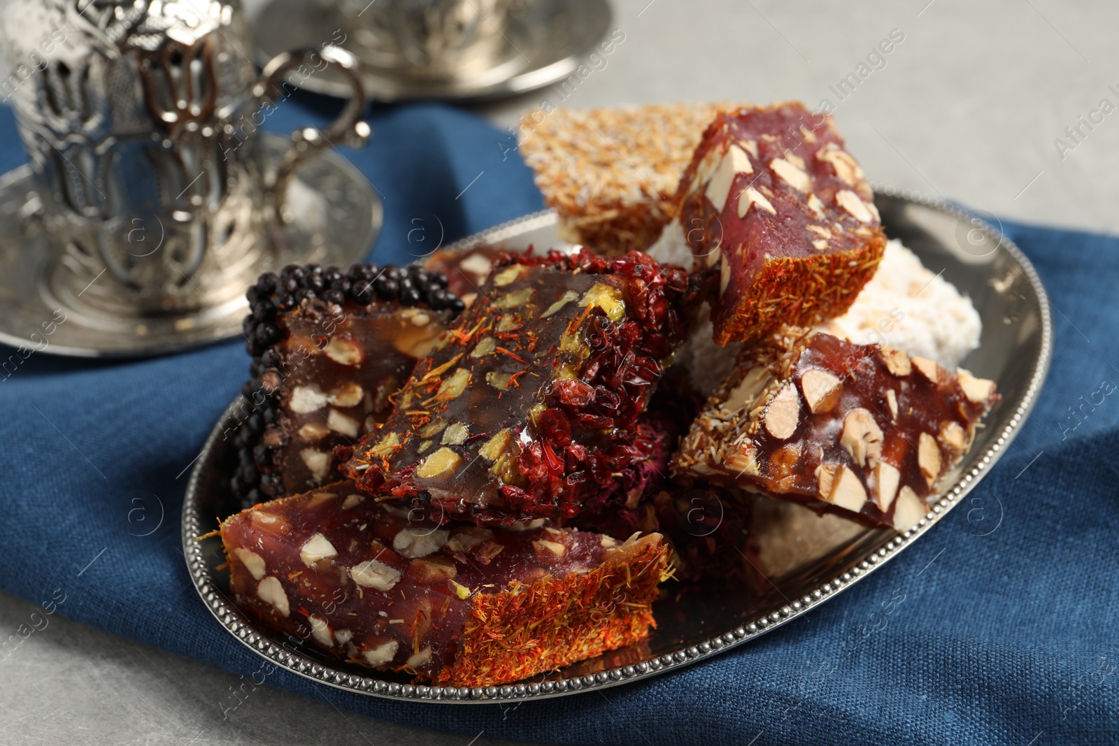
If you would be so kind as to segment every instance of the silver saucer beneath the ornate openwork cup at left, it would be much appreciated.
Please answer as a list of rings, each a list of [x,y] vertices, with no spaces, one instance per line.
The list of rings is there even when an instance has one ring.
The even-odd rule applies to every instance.
[[[275,166],[290,141],[266,135],[262,145],[266,166]],[[143,318],[95,315],[58,301],[47,283],[46,237],[26,215],[30,176],[30,168],[21,166],[0,177],[0,342],[49,355],[121,357],[173,352],[241,334],[248,309],[244,296],[196,313]],[[278,254],[262,272],[286,264],[361,262],[380,229],[380,199],[360,171],[332,151],[300,168],[288,206],[291,220],[274,234]],[[54,331],[46,334],[50,325]]]

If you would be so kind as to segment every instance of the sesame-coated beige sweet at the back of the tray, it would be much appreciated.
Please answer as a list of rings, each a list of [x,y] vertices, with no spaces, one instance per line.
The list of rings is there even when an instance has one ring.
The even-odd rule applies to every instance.
[[[704,128],[735,106],[534,112],[521,117],[520,153],[558,214],[564,240],[609,255],[643,251],[673,217],[680,174]]]

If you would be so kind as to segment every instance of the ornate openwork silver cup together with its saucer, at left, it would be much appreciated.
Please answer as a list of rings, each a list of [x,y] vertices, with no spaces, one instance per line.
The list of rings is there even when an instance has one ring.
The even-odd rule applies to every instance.
[[[283,53],[257,78],[236,0],[10,0],[0,35],[29,160],[0,178],[0,340],[18,355],[233,337],[261,272],[370,247],[379,202],[327,151],[369,136],[348,51]],[[350,92],[338,120],[265,136],[293,72],[328,67]]]

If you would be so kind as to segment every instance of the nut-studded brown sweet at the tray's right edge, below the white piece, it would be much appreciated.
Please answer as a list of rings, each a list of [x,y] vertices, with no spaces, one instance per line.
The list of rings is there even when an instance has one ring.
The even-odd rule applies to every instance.
[[[928,358],[786,330],[744,351],[674,466],[904,531],[997,398]]]

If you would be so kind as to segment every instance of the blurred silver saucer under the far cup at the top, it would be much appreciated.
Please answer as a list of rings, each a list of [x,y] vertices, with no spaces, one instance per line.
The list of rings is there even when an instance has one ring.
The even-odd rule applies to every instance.
[[[496,98],[533,91],[570,76],[594,50],[610,27],[606,0],[534,0],[519,3],[505,31],[506,45],[491,66],[469,77],[427,79],[376,69],[355,34],[355,21],[336,2],[272,0],[254,22],[256,59],[281,51],[338,44],[360,59],[363,83],[375,101]],[[345,37],[336,36],[345,34]],[[345,38],[345,41],[338,41]],[[300,87],[327,96],[349,96],[350,86],[331,69],[300,81]]]

